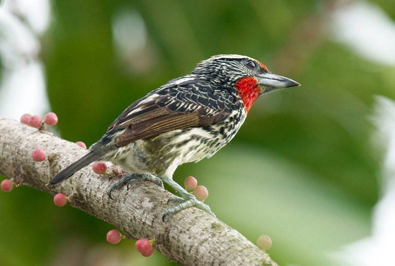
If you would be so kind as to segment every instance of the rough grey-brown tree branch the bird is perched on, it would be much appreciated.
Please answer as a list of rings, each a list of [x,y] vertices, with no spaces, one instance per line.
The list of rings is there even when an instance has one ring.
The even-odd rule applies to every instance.
[[[32,159],[37,148],[47,154],[42,162]],[[116,190],[112,200],[107,190],[118,176],[99,176],[85,167],[59,185],[45,186],[85,153],[45,126],[37,130],[0,117],[0,174],[17,184],[52,195],[65,193],[71,206],[121,229],[127,239],[155,239],[155,249],[180,265],[277,265],[237,230],[197,208],[182,210],[162,222],[162,214],[169,208],[167,199],[174,195],[152,182]]]

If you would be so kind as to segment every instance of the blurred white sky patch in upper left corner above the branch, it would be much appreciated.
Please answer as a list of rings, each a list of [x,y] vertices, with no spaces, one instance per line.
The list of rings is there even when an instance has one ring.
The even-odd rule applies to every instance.
[[[0,115],[43,115],[50,110],[40,35],[49,26],[49,0],[3,0],[0,4]]]

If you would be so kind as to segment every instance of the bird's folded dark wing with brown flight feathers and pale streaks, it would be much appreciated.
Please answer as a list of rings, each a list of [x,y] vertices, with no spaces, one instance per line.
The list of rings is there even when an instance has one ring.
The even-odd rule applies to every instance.
[[[232,112],[233,104],[228,91],[203,81],[164,85],[129,106],[107,132],[125,129],[116,141],[124,146],[175,129],[219,123]]]

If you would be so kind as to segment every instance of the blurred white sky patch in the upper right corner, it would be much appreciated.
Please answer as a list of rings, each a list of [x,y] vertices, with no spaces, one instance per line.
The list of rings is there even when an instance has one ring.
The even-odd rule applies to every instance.
[[[333,12],[333,35],[370,61],[395,65],[395,23],[378,5],[356,1]]]

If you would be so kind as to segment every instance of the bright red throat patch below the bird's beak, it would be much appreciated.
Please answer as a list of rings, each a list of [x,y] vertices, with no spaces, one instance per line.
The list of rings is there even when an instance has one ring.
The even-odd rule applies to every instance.
[[[255,77],[247,76],[239,79],[235,85],[236,90],[240,94],[241,100],[243,101],[245,112],[248,113],[251,105],[260,94],[258,80]]]

